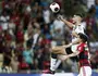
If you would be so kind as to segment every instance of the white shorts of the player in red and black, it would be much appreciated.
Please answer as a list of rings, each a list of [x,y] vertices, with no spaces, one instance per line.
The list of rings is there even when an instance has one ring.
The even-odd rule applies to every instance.
[[[91,76],[90,66],[82,66],[78,76]]]

